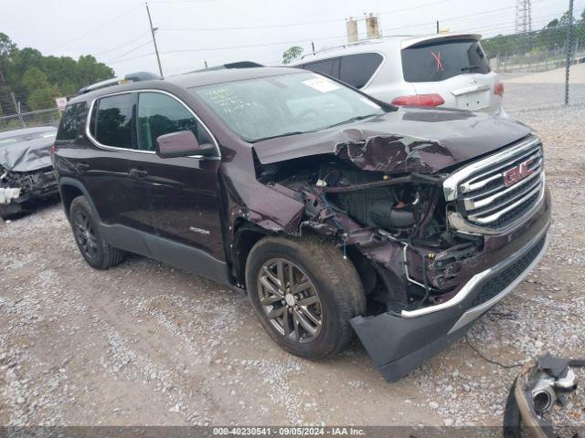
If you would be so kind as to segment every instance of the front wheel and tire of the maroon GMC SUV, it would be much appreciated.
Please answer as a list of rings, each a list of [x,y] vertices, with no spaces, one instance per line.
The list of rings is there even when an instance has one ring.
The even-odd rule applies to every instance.
[[[308,277],[314,287],[307,289],[313,291],[307,295],[317,295],[320,300],[318,305],[314,305],[317,308],[314,308],[312,313],[321,318],[321,324],[318,325],[319,329],[316,335],[308,336],[310,339],[308,341],[298,339],[297,333],[303,332],[303,326],[295,329],[294,332],[289,330],[289,336],[286,336],[281,329],[284,327],[284,316],[287,312],[293,314],[286,317],[291,318],[287,319],[287,327],[299,327],[300,317],[298,313],[295,313],[294,305],[293,308],[287,308],[282,317],[269,318],[269,313],[282,311],[282,307],[288,307],[289,303],[285,299],[279,300],[277,298],[277,301],[269,306],[266,306],[266,300],[261,304],[261,294],[262,297],[267,297],[265,292],[268,290],[261,284],[262,276],[264,276],[264,280],[267,279],[263,266],[267,264],[270,266],[274,260],[277,261],[275,262],[275,271],[271,272],[278,273],[279,260],[285,261],[284,266],[286,266],[286,262],[291,262],[296,266],[293,268],[296,270],[294,270],[295,274],[289,274],[289,277],[302,276],[297,282],[302,285],[306,284]],[[283,268],[282,271],[287,268]],[[286,279],[284,283],[285,285],[293,284]],[[328,242],[322,242],[314,236],[302,238],[269,236],[262,238],[250,250],[246,262],[246,285],[254,310],[271,339],[282,349],[306,359],[322,360],[346,349],[354,336],[349,320],[366,311],[366,296],[356,267],[349,258],[343,258],[338,247]],[[295,287],[295,290],[298,288]],[[284,296],[291,294],[290,288],[288,293],[286,290],[287,287],[283,287]],[[276,298],[278,295],[273,294],[272,297]],[[302,295],[293,295],[293,297],[298,297],[296,304],[299,306],[297,308],[301,307],[301,300],[306,299]],[[289,298],[291,301],[293,300],[293,298]],[[301,309],[301,313],[303,316],[306,314],[306,306],[304,310]],[[305,318],[305,320],[307,319]],[[275,327],[275,321],[278,321],[280,328]],[[297,326],[295,326],[295,321],[297,321]],[[308,332],[305,333],[305,335],[308,334]]]

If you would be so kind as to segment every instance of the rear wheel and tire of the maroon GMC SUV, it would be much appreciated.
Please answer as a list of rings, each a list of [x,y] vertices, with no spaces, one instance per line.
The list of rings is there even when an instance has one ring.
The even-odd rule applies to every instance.
[[[122,263],[124,252],[109,245],[100,233],[97,215],[84,196],[75,198],[69,207],[69,222],[75,243],[88,264],[96,269],[107,269]]]

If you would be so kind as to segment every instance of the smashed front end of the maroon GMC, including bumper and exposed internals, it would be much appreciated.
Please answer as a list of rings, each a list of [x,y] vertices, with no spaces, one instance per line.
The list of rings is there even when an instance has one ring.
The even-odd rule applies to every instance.
[[[544,254],[550,220],[544,172],[530,183],[538,188],[537,200],[524,203],[520,213],[508,208],[526,197],[519,188],[500,191],[499,180],[473,186],[468,193],[484,203],[473,212],[464,210],[469,203],[462,189],[482,178],[494,182],[493,175],[513,168],[526,153],[540,151],[535,153],[541,157],[541,145],[535,136],[516,141],[505,150],[513,153],[496,152],[467,172],[469,166],[453,165],[456,157],[439,141],[351,135],[329,154],[269,163],[260,157],[257,178],[295,193],[304,204],[300,233],[333,241],[353,261],[367,293],[367,313],[353,318],[352,326],[378,370],[396,381],[462,336]],[[532,169],[537,172],[534,164]],[[454,192],[453,175],[461,179]],[[508,196],[504,203],[500,192]],[[491,226],[498,209],[510,217]],[[453,214],[469,226],[455,226]],[[486,215],[481,226],[473,222]]]

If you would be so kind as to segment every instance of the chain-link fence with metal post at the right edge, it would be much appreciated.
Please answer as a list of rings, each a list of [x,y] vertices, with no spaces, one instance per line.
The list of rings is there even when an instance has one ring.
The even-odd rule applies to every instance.
[[[495,36],[483,45],[505,84],[505,110],[585,105],[585,22]]]

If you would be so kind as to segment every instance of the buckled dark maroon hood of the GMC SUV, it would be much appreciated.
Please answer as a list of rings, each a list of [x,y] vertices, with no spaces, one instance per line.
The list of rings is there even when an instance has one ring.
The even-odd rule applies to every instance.
[[[254,144],[262,164],[332,153],[366,171],[433,173],[526,137],[515,120],[462,110],[401,108],[373,119]]]

